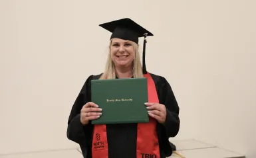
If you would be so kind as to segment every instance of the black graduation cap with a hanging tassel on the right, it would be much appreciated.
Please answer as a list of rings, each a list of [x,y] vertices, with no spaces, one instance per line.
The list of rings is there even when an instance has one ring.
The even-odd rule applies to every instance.
[[[151,32],[137,24],[131,19],[119,19],[111,22],[106,22],[104,24],[100,24],[102,28],[112,32],[110,36],[110,40],[112,38],[120,38],[122,40],[130,40],[138,44],[138,38],[144,37],[143,42],[143,64],[142,70],[143,73],[146,74],[146,63],[145,63],[145,51],[146,51],[146,36],[154,36]]]

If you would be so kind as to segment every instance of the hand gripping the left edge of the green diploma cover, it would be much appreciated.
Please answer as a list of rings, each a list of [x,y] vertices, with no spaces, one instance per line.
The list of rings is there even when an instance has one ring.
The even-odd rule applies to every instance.
[[[83,125],[88,124],[89,120],[95,120],[102,115],[102,109],[98,108],[94,102],[87,102],[82,106],[80,113],[80,121]]]

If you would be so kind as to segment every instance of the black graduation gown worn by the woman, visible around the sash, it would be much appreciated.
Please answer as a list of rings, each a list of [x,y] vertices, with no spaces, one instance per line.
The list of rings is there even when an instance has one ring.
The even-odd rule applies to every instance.
[[[86,102],[90,101],[90,80],[98,79],[100,75],[90,75],[86,79],[68,118],[67,138],[80,145],[84,158],[92,157],[93,126],[90,123],[82,126],[80,110]],[[172,147],[168,138],[176,136],[180,130],[180,108],[168,81],[164,77],[152,73],[150,75],[156,85],[159,102],[164,104],[167,110],[165,124],[157,124],[160,154],[161,158],[164,158],[172,155]],[[106,130],[109,158],[136,158],[136,124],[107,124]]]

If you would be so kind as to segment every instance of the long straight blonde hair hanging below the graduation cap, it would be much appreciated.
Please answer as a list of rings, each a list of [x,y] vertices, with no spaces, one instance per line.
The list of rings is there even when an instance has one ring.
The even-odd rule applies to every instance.
[[[105,71],[101,75],[100,79],[116,79],[116,72],[115,72],[115,65],[114,62],[111,59],[111,43],[112,40],[110,40],[110,45],[108,49],[108,58],[106,59],[106,65],[105,65]],[[142,63],[140,62],[140,54],[138,51],[138,44],[135,42],[132,42],[134,46],[134,61],[133,61],[133,77],[134,78],[142,78],[144,77],[142,72]]]

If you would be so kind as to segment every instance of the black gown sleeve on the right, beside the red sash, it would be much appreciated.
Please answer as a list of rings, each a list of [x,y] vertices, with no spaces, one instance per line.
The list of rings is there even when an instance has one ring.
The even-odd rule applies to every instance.
[[[161,103],[166,106],[166,122],[163,125],[168,138],[175,137],[180,130],[180,108],[168,81],[164,77],[161,77],[160,83]]]

